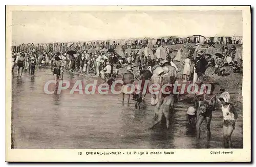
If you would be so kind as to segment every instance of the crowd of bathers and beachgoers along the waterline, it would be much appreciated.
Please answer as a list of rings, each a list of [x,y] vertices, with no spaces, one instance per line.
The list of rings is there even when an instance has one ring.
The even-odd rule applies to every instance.
[[[242,72],[242,67],[238,65],[238,61],[233,61],[234,52],[236,48],[232,46],[228,48],[223,46],[220,49],[220,54],[210,55],[206,54],[202,45],[197,44],[194,47],[188,47],[188,54],[183,64],[183,78],[191,83],[201,85],[204,82],[203,76],[209,66],[215,66],[215,73],[217,75],[225,74],[225,66],[233,66],[235,72]],[[214,45],[211,45],[214,47]],[[163,86],[165,84],[175,84],[178,78],[178,68],[174,63],[174,57],[172,57],[173,50],[166,50],[166,58],[157,58],[150,54],[145,55],[145,52],[136,53],[124,53],[124,55],[118,55],[115,50],[100,50],[95,52],[75,51],[68,52],[13,52],[12,53],[12,74],[14,75],[14,68],[17,66],[17,76],[22,77],[23,73],[29,72],[32,76],[35,75],[35,69],[51,68],[54,74],[54,78],[58,84],[59,80],[63,80],[63,74],[66,71],[78,72],[79,75],[87,76],[87,74],[94,74],[101,77],[103,80],[108,81],[108,84],[112,84],[110,80],[115,80],[119,74],[119,69],[126,66],[127,72],[123,74],[123,86],[122,86],[122,101],[126,94],[126,85],[134,83],[135,80],[142,79],[151,80],[152,84],[159,84]],[[154,52],[153,52],[154,54]],[[155,58],[155,59],[153,59]],[[218,61],[216,61],[219,59]],[[222,61],[221,61],[221,60]],[[240,62],[241,64],[241,62]],[[194,67],[193,67],[194,65]],[[191,68],[193,67],[193,68]],[[136,69],[136,70],[135,70]],[[193,70],[191,70],[193,69]],[[136,71],[133,73],[133,71]],[[144,84],[144,82],[143,82]],[[144,85],[136,89],[143,89]],[[205,88],[206,89],[206,88]],[[169,96],[173,96],[173,87],[166,87],[166,92],[169,94],[151,94],[151,104],[155,105],[156,113],[166,114],[166,126],[169,127],[168,118],[174,114],[175,108],[173,106],[173,99]],[[216,103],[220,103],[223,112],[223,132],[225,147],[231,147],[230,136],[235,126],[235,122],[238,118],[236,109],[230,103],[230,95],[228,92],[222,91],[221,95],[212,95],[213,90],[208,95],[205,92],[203,94],[195,94],[195,104],[190,106],[187,110],[187,120],[191,127],[196,127],[198,138],[200,138],[200,126],[205,120],[207,125],[207,141],[210,140],[210,121],[212,118],[212,111],[216,108]],[[146,94],[133,94],[135,100],[135,107],[140,107],[140,102],[145,98]],[[168,97],[168,99],[167,99]],[[176,99],[178,98],[174,95]],[[130,94],[127,95],[127,101],[130,101]],[[169,106],[161,107],[161,106]],[[169,108],[172,108],[171,112]],[[171,114],[170,114],[171,113]],[[158,122],[156,122],[157,124]]]

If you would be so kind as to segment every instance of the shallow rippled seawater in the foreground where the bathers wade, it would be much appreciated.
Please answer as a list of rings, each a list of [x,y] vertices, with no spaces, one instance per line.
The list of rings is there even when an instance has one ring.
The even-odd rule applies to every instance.
[[[183,70],[183,69],[182,69]],[[15,76],[16,76],[15,71]],[[186,126],[186,101],[175,104],[176,114],[169,130],[152,126],[154,107],[150,95],[134,108],[134,101],[121,102],[121,94],[61,94],[44,93],[44,85],[53,79],[50,69],[37,69],[35,77],[28,73],[22,78],[12,78],[13,147],[18,149],[169,149],[206,148],[206,127],[201,127],[201,139]],[[64,79],[83,79],[90,82],[95,77],[81,77],[65,73]],[[102,81],[98,79],[99,82]],[[231,94],[231,101],[237,95]],[[239,100],[239,99],[238,99]],[[241,106],[240,106],[241,107]],[[243,148],[242,110],[232,134],[234,148]],[[216,109],[211,121],[210,148],[223,148],[222,112]]]

